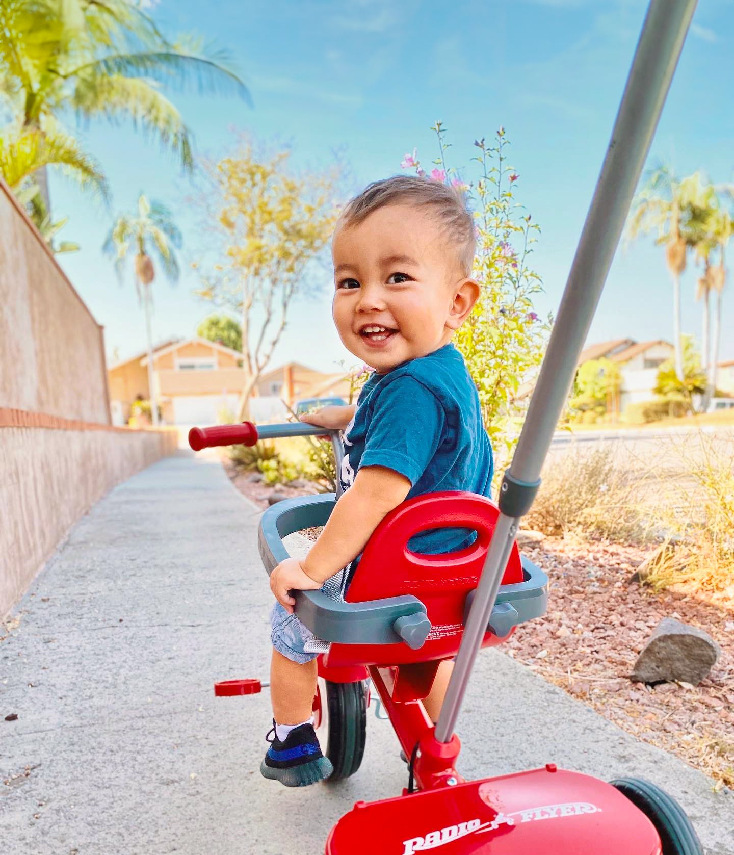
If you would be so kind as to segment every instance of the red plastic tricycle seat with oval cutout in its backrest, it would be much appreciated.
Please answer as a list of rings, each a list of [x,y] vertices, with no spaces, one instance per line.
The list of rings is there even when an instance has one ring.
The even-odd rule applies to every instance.
[[[328,666],[401,664],[455,656],[464,628],[467,593],[477,587],[499,510],[490,499],[471,492],[436,492],[410,499],[385,517],[365,547],[346,599],[413,594],[426,604],[432,631],[420,650],[407,645],[339,645],[326,654]],[[408,550],[415,534],[434,528],[468,528],[477,532],[471,546],[445,555]],[[513,545],[503,584],[523,581],[520,552]],[[488,633],[484,645],[500,639]]]

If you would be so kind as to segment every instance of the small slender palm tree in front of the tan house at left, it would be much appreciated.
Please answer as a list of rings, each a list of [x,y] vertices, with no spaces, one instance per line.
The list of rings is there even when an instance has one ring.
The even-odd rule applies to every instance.
[[[120,214],[103,245],[103,251],[115,257],[118,275],[122,273],[130,252],[135,252],[135,286],[145,315],[150,415],[154,425],[158,424],[158,404],[153,386],[153,338],[150,332],[153,294],[150,286],[156,276],[156,268],[151,256],[158,258],[167,278],[177,282],[179,264],[174,250],[180,249],[180,246],[181,233],[173,224],[170,210],[160,202],[150,203],[142,194],[138,198],[138,215]]]

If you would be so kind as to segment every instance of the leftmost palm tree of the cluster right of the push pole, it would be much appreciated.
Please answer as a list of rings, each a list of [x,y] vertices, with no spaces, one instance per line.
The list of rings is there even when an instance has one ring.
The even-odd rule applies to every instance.
[[[661,164],[650,170],[627,225],[630,239],[656,230],[655,243],[665,244],[666,264],[673,286],[673,343],[675,374],[684,379],[680,328],[680,277],[688,251],[701,239],[701,220],[706,209],[704,184],[696,173],[678,180],[670,167]]]

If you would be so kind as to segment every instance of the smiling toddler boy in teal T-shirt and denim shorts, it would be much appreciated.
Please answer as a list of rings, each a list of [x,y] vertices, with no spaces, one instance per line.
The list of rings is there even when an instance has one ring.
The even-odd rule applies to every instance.
[[[303,416],[344,430],[346,453],[339,474],[344,493],[319,539],[307,557],[289,558],[270,576],[278,600],[271,616],[274,721],[261,773],[288,787],[332,772],[311,715],[318,654],[313,635],[293,614],[289,592],[317,590],[332,580],[326,590],[338,595],[334,577],[406,498],[443,490],[490,494],[492,454],[479,396],[450,343],[479,298],[471,278],[474,250],[473,218],[463,199],[428,179],[376,181],[338,221],[334,322],[344,346],[374,373],[355,407]],[[472,537],[465,529],[440,529],[419,534],[410,547],[451,552]],[[425,702],[434,720],[448,673],[439,673]]]

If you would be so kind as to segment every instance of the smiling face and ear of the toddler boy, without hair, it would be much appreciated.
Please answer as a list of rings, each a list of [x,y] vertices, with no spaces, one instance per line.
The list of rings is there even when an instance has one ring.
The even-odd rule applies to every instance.
[[[432,215],[410,205],[340,228],[332,257],[339,337],[381,374],[448,344],[479,296]]]

